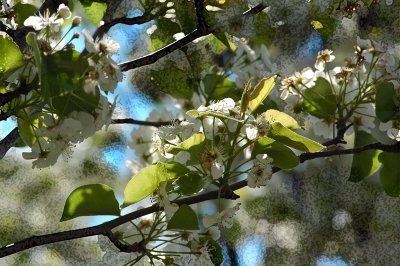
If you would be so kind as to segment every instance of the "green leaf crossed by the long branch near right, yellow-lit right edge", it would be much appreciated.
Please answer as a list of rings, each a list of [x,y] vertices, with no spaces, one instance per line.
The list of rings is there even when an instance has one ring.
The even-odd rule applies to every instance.
[[[373,142],[375,139],[367,132],[359,130],[355,132],[354,147],[362,147]],[[379,150],[369,150],[354,154],[349,180],[359,182],[375,173],[381,165],[378,161],[380,153]]]

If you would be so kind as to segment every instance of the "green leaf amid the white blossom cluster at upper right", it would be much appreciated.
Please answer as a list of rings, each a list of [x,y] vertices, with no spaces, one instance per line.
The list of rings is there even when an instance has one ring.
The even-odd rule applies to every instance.
[[[315,86],[304,91],[303,109],[318,118],[332,118],[336,113],[336,96],[330,83],[317,78]]]

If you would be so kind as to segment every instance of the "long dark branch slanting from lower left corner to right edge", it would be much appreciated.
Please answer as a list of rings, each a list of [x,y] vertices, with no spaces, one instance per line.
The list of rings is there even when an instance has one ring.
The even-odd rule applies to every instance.
[[[329,157],[329,156],[337,156],[337,155],[345,155],[345,154],[357,154],[361,153],[363,151],[367,150],[382,150],[386,152],[394,152],[394,153],[400,153],[400,142],[397,142],[396,144],[393,145],[386,145],[382,143],[372,143],[368,144],[362,147],[357,147],[353,149],[345,149],[345,150],[333,150],[333,151],[322,151],[322,152],[315,152],[315,153],[303,153],[299,155],[300,163],[303,163],[308,160],[316,159],[316,158],[324,158],[324,157]],[[276,173],[280,171],[281,169],[274,167],[273,168],[273,173]],[[243,188],[247,186],[247,181],[242,180],[239,182],[236,182],[232,185],[230,185],[227,189],[222,190],[221,193],[218,192],[218,190],[214,191],[209,191],[206,193],[202,193],[196,196],[192,197],[187,197],[183,199],[179,199],[177,201],[174,201],[178,205],[182,204],[187,204],[187,205],[192,205],[195,203],[207,201],[207,200],[213,200],[213,199],[218,199],[220,198],[225,198],[225,199],[237,199],[238,196],[234,193],[232,193],[235,190],[238,190],[240,188]],[[162,207],[158,206],[157,204],[154,204],[150,207],[143,208],[143,209],[138,209],[134,212],[131,212],[129,214],[126,214],[124,216],[118,217],[114,220],[111,220],[109,222],[97,225],[97,226],[92,226],[92,227],[86,227],[82,229],[76,229],[76,230],[70,230],[70,231],[65,231],[65,232],[58,232],[58,233],[53,233],[53,234],[48,234],[48,235],[42,235],[42,236],[33,236],[30,238],[27,238],[25,240],[21,240],[19,242],[16,242],[14,244],[7,245],[5,247],[0,248],[0,258],[5,257],[11,254],[15,254],[17,252],[27,250],[33,247],[45,245],[45,244],[50,244],[50,243],[56,243],[60,241],[65,241],[65,240],[71,240],[71,239],[77,239],[77,238],[83,238],[83,237],[88,237],[88,236],[95,236],[95,235],[105,235],[107,236],[110,241],[116,245],[122,252],[132,252],[132,251],[140,251],[140,242],[136,243],[131,246],[126,246],[121,243],[115,237],[113,236],[111,229],[122,225],[124,223],[127,223],[129,221],[132,221],[134,219],[140,218],[142,216],[161,211],[163,210]],[[116,242],[118,241],[118,242]]]

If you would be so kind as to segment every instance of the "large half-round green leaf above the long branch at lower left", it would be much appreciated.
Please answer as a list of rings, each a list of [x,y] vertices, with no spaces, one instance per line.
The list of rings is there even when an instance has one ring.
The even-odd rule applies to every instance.
[[[114,191],[104,184],[81,186],[68,196],[61,222],[79,216],[120,215]]]

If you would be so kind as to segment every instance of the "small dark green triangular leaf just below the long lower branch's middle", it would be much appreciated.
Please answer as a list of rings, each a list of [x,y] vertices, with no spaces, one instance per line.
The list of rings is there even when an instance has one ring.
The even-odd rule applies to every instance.
[[[188,205],[183,204],[168,222],[167,230],[199,230],[196,213]]]

